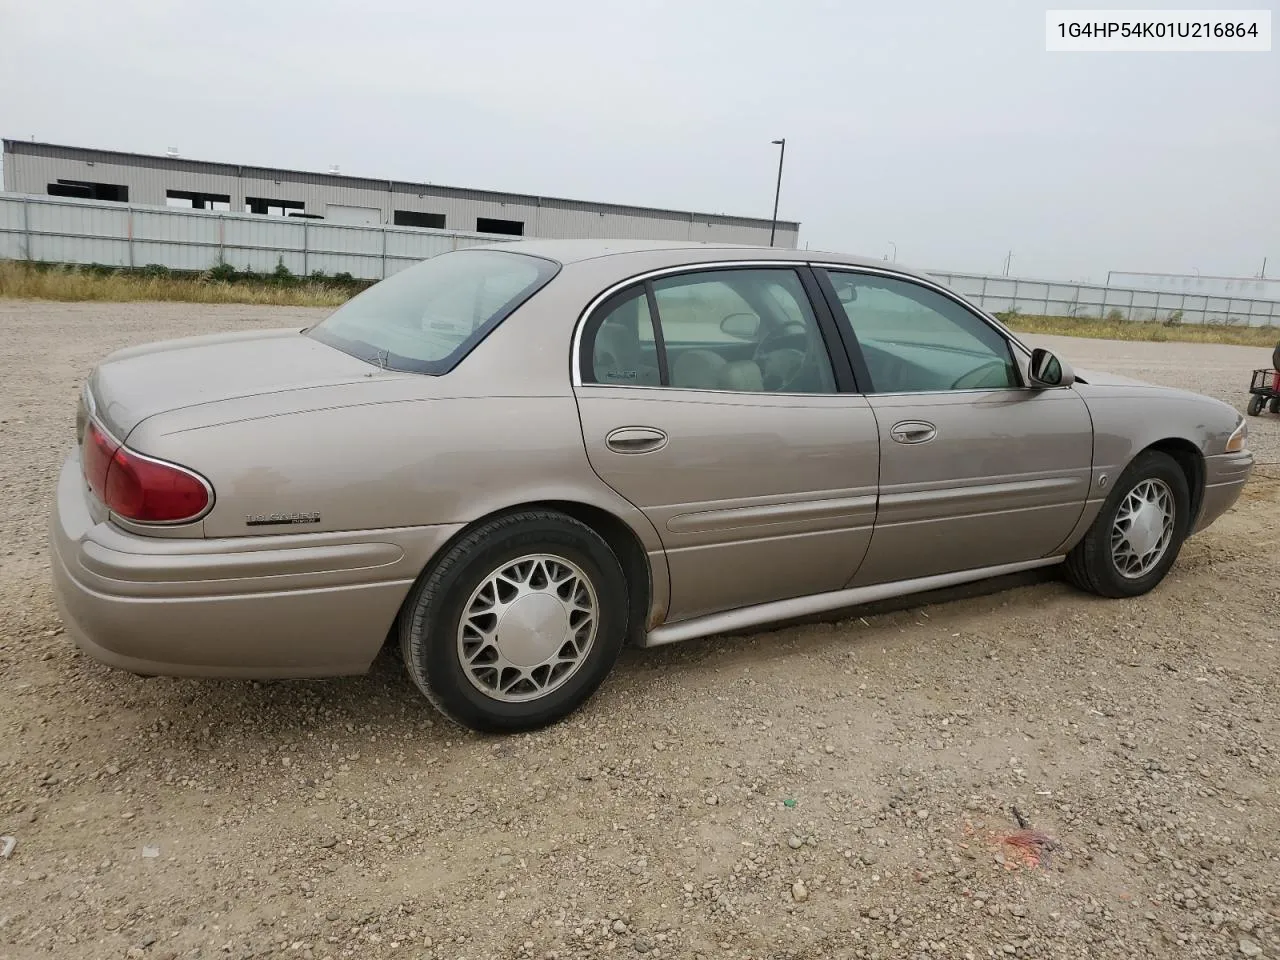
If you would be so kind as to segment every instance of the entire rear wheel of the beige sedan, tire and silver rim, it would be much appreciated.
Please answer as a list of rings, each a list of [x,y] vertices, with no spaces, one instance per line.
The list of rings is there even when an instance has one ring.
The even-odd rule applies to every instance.
[[[451,719],[532,730],[591,696],[626,634],[627,586],[608,544],[562,513],[526,511],[433,564],[401,617],[401,654]]]

